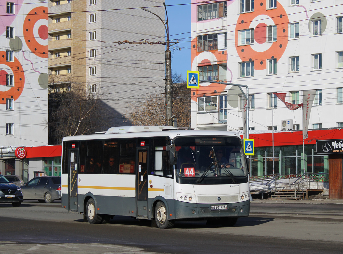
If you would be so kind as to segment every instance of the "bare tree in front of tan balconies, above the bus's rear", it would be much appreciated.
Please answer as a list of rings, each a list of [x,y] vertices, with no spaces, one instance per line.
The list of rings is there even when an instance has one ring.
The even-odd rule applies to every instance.
[[[96,87],[50,75],[49,144],[60,144],[64,136],[92,134],[107,127],[97,110],[101,97]]]

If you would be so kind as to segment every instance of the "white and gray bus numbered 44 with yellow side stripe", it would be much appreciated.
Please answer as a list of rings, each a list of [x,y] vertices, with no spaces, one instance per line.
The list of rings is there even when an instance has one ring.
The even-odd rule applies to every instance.
[[[63,138],[62,206],[91,224],[122,215],[159,228],[177,220],[233,226],[249,216],[248,173],[232,132],[112,127]]]

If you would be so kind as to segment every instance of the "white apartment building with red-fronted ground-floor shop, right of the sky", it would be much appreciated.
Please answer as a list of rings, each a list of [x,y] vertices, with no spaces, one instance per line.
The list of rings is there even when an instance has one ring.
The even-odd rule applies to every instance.
[[[242,135],[242,92],[211,81],[246,85],[251,174],[328,172],[329,155],[316,152],[316,140],[343,138],[342,12],[333,0],[192,0],[192,70],[208,80],[192,89],[192,127]],[[290,108],[306,91],[315,98],[304,149],[303,107]]]

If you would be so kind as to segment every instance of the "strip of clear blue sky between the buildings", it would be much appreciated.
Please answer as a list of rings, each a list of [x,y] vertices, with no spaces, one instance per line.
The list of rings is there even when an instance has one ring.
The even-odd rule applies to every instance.
[[[180,42],[179,46],[174,46],[175,50],[170,47],[171,72],[182,74],[184,79],[186,79],[187,71],[191,70],[190,2],[191,0],[165,0],[169,23],[169,40]]]

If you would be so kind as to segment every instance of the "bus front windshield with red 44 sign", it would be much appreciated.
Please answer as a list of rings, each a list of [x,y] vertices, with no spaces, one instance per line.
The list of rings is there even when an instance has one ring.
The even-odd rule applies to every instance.
[[[175,138],[180,178],[237,178],[248,175],[241,140],[236,137]]]

